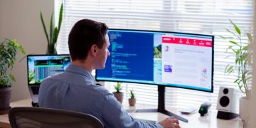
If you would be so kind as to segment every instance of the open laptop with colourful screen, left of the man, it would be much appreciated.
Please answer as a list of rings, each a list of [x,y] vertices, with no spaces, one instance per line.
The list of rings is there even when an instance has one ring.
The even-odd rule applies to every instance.
[[[69,55],[27,55],[28,90],[32,104],[38,103],[41,82],[50,76],[63,73],[70,65]]]

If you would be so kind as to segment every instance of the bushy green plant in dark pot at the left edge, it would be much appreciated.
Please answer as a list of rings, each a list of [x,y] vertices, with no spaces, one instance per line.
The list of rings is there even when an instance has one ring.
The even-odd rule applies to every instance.
[[[11,82],[15,81],[15,78],[9,71],[14,67],[18,50],[26,54],[15,39],[6,38],[0,43],[0,114],[6,114],[10,109]]]

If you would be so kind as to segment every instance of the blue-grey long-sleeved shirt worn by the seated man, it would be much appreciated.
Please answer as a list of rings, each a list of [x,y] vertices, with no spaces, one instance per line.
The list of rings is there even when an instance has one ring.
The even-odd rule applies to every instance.
[[[111,92],[95,85],[90,72],[75,65],[43,80],[39,106],[92,114],[109,128],[161,127],[134,120]]]

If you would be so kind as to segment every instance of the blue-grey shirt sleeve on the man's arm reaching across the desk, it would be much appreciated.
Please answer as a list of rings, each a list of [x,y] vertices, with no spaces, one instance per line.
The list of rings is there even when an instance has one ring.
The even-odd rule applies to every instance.
[[[105,100],[102,104],[102,119],[105,127],[112,128],[161,128],[160,124],[147,124],[134,120],[123,109],[122,105],[115,99],[115,97],[109,93],[105,96]]]

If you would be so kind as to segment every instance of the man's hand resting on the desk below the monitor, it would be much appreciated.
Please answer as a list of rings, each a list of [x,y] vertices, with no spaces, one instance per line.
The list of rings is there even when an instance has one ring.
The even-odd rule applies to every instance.
[[[180,128],[178,119],[175,119],[174,117],[168,117],[159,122],[159,124],[164,128]]]

